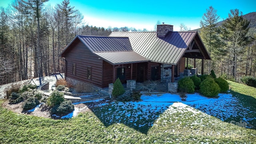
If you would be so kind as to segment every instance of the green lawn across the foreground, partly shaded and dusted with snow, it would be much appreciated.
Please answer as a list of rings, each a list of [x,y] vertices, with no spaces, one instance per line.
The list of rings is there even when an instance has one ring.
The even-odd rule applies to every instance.
[[[256,117],[256,88],[228,82],[233,96],[245,108],[253,111],[246,115]],[[230,124],[229,121],[234,118],[222,121],[218,116],[210,116],[197,107],[175,104],[145,106],[132,102],[108,102],[90,107],[91,111],[66,120],[16,114],[0,106],[0,143],[256,142],[256,130]],[[236,121],[239,119],[235,118]],[[254,123],[252,125],[255,126]]]

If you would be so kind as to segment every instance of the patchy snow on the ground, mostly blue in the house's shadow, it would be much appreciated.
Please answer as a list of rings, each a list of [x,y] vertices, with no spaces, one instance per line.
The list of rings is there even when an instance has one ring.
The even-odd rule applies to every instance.
[[[198,93],[187,94],[186,101],[181,101],[177,94],[152,94],[142,95],[140,102],[109,102],[108,100],[94,100],[91,102],[92,109],[106,124],[124,123],[135,126],[153,126],[160,114],[164,112],[192,112],[193,114],[204,113],[219,118],[222,121],[228,118],[242,117],[241,120],[248,123],[256,119],[249,117],[250,108],[245,108],[232,94],[219,94],[219,98],[206,98]],[[81,102],[80,102],[81,103]],[[80,104],[74,103],[74,104]],[[88,103],[88,102],[83,102]],[[74,112],[62,118],[76,116],[82,108],[75,108]],[[151,120],[150,120],[151,119]]]

